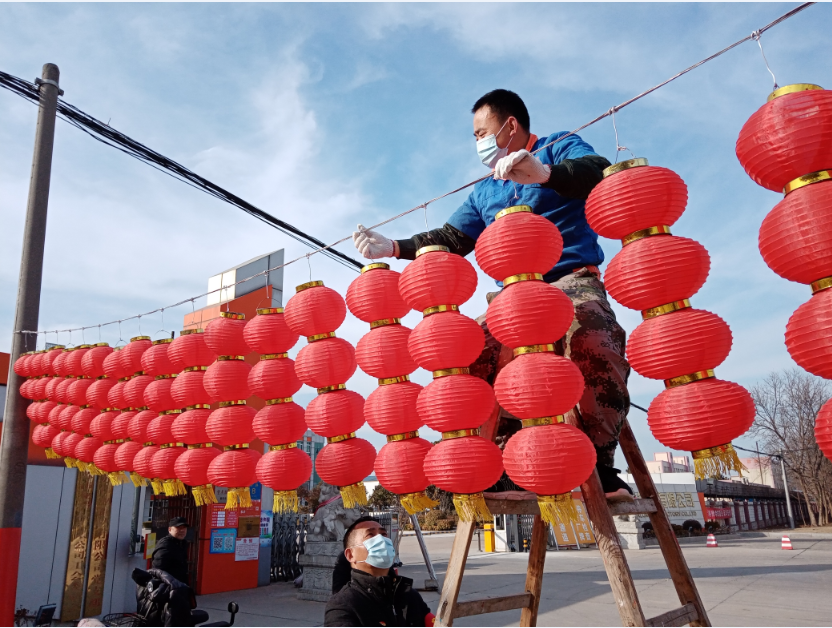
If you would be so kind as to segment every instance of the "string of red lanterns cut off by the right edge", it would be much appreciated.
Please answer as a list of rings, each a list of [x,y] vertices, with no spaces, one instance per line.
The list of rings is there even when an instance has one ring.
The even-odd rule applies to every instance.
[[[760,226],[763,260],[812,287],[786,325],[786,348],[799,366],[832,379],[832,91],[799,83],[772,92],[743,125],[737,157],[757,184],[784,195]],[[832,401],[815,437],[832,460]]]

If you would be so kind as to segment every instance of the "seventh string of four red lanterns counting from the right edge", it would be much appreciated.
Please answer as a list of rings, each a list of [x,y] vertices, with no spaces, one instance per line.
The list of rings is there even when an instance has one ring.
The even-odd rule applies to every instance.
[[[297,512],[297,489],[312,473],[309,455],[297,448],[306,433],[305,412],[292,399],[302,384],[288,351],[299,337],[280,307],[258,309],[245,328],[246,342],[260,354],[248,377],[249,388],[266,402],[252,424],[257,438],[269,445],[257,462],[257,479],[274,490],[275,513]]]

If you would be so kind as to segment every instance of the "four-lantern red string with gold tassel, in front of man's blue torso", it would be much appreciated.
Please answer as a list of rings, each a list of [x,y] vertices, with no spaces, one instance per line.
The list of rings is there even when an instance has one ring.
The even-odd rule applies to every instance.
[[[572,489],[586,481],[596,462],[589,438],[563,418],[580,400],[584,378],[571,360],[555,353],[574,309],[543,274],[562,250],[558,228],[528,205],[498,212],[476,246],[480,268],[504,287],[488,306],[488,329],[514,353],[497,375],[494,393],[523,425],[506,444],[503,465],[515,483],[537,494],[541,516],[553,525],[577,521]]]

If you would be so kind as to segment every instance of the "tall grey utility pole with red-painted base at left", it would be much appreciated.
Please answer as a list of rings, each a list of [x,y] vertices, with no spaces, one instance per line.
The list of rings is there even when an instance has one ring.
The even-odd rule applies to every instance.
[[[39,86],[40,106],[29,181],[29,202],[23,229],[23,255],[17,284],[17,309],[12,334],[11,365],[21,353],[33,350],[37,336],[20,333],[36,330],[40,313],[40,287],[43,277],[43,248],[46,239],[46,208],[52,175],[52,146],[55,140],[55,116],[58,96],[58,66],[43,66]],[[26,464],[29,452],[29,401],[20,395],[24,378],[9,368],[6,411],[0,442],[0,625],[14,624],[17,595],[17,568],[20,561],[20,534],[23,525],[23,495],[26,490]]]

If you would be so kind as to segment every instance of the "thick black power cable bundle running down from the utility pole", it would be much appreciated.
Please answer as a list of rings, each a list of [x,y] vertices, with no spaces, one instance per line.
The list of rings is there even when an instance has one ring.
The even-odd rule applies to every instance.
[[[21,98],[35,104],[40,102],[37,85],[6,72],[0,71],[0,87],[4,87]],[[146,163],[150,167],[155,168],[160,172],[164,172],[174,179],[182,181],[193,188],[202,190],[206,194],[210,194],[214,198],[243,210],[250,216],[254,216],[258,220],[274,227],[278,231],[281,231],[301,244],[317,249],[316,252],[322,252],[324,255],[335,260],[339,264],[352,268],[353,270],[363,266],[361,262],[352,259],[348,255],[344,255],[339,251],[326,247],[326,245],[318,238],[305,233],[284,220],[272,216],[270,213],[258,207],[255,207],[236,194],[232,194],[225,188],[222,188],[205,177],[196,174],[173,159],[165,157],[161,153],[148,148],[141,142],[138,142],[124,133],[117,131],[109,124],[101,122],[88,113],[81,111],[74,105],[69,104],[65,100],[58,100],[58,116],[75,128],[80,129],[94,140],[101,142],[106,146],[115,148],[126,155],[130,155],[131,157]],[[325,248],[321,249],[320,247]]]

